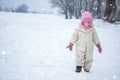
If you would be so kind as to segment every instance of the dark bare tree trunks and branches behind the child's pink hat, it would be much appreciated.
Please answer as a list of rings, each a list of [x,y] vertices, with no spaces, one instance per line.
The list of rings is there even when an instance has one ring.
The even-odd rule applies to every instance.
[[[58,7],[65,19],[81,17],[81,10],[87,10],[97,19],[108,22],[120,21],[120,0],[51,0],[52,7]]]

